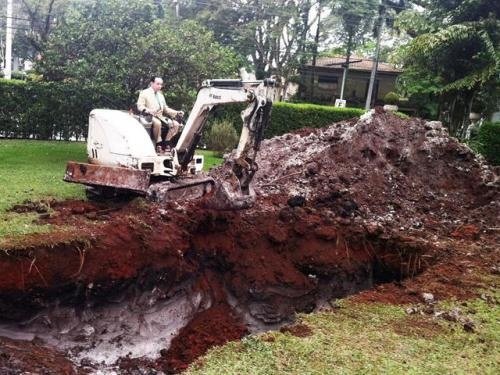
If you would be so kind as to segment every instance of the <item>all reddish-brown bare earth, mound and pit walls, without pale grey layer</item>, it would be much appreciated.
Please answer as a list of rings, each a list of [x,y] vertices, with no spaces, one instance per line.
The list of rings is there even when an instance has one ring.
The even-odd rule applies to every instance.
[[[122,373],[176,372],[213,345],[332,298],[468,298],[482,286],[478,274],[498,273],[498,177],[439,123],[377,111],[267,140],[258,162],[258,199],[245,211],[204,201],[51,202],[40,220],[74,229],[5,245],[1,319],[26,321],[56,296],[86,306],[133,286],[158,303],[189,285],[201,300],[168,347],[117,364]],[[32,206],[16,211],[40,209]]]

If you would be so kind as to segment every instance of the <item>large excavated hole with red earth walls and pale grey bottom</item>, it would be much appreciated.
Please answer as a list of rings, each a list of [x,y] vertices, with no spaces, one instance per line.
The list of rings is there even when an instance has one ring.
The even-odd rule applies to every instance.
[[[143,235],[126,238],[126,248],[123,238],[91,244],[83,266],[77,266],[83,250],[72,244],[3,257],[25,272],[31,264],[30,275],[39,273],[35,279],[42,282],[1,293],[0,336],[36,339],[94,370],[133,366],[141,358],[143,365],[175,372],[212,345],[278,329],[295,312],[312,312],[332,299],[421,271],[421,249],[331,226],[313,232],[297,231],[297,223],[261,232],[234,227],[227,218],[207,216],[182,256],[173,261],[172,249],[164,248],[134,277],[122,279],[113,277],[144,260],[132,254],[147,254]],[[63,255],[64,267],[81,267],[81,277],[58,285],[64,280],[57,268]],[[158,257],[170,260],[155,264]],[[104,267],[116,267],[108,278],[96,269],[105,261]],[[86,277],[91,274],[92,281]]]

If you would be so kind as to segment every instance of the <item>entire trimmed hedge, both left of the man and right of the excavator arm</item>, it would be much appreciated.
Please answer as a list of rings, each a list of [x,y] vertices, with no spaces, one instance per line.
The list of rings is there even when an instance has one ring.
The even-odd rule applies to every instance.
[[[0,79],[0,136],[9,138],[81,139],[93,108],[128,109],[136,97],[114,85],[80,86],[75,82]],[[244,105],[221,106],[213,120],[229,120],[241,129]],[[357,108],[276,102],[266,138],[305,127],[324,127],[360,116]],[[210,121],[207,131],[210,129]]]

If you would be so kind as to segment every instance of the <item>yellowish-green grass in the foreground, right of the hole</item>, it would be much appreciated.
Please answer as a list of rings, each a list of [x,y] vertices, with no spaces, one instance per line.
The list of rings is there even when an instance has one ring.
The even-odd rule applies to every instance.
[[[214,348],[186,374],[495,374],[500,309],[478,299],[476,331],[404,307],[343,301],[333,312],[301,315],[308,337],[269,332]]]

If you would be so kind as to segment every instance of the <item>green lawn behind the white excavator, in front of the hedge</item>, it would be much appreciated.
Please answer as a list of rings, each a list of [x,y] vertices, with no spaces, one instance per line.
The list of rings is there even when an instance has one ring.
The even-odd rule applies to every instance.
[[[205,169],[221,159],[213,151],[200,150]],[[84,142],[0,140],[0,238],[50,230],[35,225],[34,214],[6,212],[26,200],[84,199],[83,185],[62,180],[68,160],[86,161]]]

